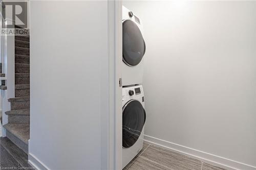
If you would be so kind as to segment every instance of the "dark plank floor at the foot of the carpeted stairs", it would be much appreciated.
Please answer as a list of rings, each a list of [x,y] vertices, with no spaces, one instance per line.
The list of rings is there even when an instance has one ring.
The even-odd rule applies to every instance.
[[[34,169],[28,155],[7,137],[0,138],[0,169]]]

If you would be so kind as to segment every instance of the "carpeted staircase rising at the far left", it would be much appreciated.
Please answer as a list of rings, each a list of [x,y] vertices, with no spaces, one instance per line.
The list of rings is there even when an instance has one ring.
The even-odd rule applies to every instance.
[[[30,119],[29,53],[29,35],[15,35],[15,98],[8,100],[11,110],[5,112],[8,124],[4,125],[7,137],[26,153]]]

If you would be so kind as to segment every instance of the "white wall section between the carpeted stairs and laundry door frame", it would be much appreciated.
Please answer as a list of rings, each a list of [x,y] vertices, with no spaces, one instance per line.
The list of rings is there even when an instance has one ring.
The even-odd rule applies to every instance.
[[[106,169],[108,2],[31,1],[30,10],[30,162]]]

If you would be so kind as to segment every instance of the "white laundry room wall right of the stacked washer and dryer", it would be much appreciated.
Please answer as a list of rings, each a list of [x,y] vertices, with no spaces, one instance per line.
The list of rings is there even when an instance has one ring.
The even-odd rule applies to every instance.
[[[123,5],[143,22],[146,138],[256,169],[256,2]]]

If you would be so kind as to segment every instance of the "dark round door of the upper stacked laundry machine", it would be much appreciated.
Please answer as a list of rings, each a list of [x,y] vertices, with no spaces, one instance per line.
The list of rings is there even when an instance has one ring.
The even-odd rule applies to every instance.
[[[145,54],[145,42],[136,23],[130,19],[123,21],[123,62],[136,66]]]

